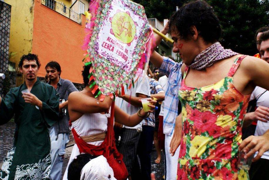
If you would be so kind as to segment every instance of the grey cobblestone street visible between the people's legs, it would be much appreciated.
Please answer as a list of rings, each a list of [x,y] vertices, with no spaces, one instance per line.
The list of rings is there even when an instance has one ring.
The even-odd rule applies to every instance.
[[[7,151],[9,151],[9,149],[11,149],[11,147],[13,146],[13,141],[14,141],[14,131],[15,131],[15,123],[14,121],[9,121],[8,123],[0,126],[0,166],[3,164],[3,161],[6,157],[6,153]],[[68,145],[72,145],[74,144],[74,140],[72,135],[70,135],[70,142],[68,143]],[[70,146],[68,148],[66,148],[66,154],[64,157],[64,165],[63,165],[63,171],[62,171],[62,176],[64,175],[64,171],[66,170],[66,166],[69,160],[69,157],[71,155],[72,152],[72,148],[73,146]],[[151,152],[151,170],[153,173],[156,174],[156,179],[162,179],[163,175],[164,175],[164,156],[162,154],[162,161],[161,164],[156,164],[154,161],[157,157],[156,151],[153,150]],[[143,179],[141,177],[141,179]]]

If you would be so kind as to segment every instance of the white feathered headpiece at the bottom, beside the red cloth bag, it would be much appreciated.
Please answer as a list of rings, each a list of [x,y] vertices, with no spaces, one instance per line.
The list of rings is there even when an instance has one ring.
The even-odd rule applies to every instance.
[[[104,156],[91,159],[81,170],[80,180],[117,180]]]

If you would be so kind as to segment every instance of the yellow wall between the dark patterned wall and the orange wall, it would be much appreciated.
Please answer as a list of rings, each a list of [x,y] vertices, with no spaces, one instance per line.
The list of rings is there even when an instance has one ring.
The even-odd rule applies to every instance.
[[[9,52],[17,52],[12,61],[32,52],[34,0],[5,0],[11,5]]]

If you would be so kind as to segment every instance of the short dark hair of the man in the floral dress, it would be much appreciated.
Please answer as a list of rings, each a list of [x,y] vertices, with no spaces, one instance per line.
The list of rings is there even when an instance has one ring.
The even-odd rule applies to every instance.
[[[213,8],[203,0],[191,1],[178,9],[169,19],[169,33],[177,30],[180,38],[193,36],[191,26],[207,43],[215,43],[221,35],[220,21]]]

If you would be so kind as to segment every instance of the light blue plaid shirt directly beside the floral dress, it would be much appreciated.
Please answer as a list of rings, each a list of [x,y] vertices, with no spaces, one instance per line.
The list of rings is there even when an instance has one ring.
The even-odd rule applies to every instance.
[[[175,128],[178,116],[178,91],[181,86],[181,63],[177,63],[168,57],[163,57],[160,71],[168,76],[167,89],[164,99],[163,134],[171,136]]]

